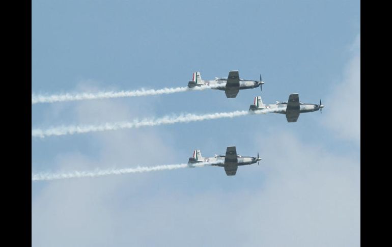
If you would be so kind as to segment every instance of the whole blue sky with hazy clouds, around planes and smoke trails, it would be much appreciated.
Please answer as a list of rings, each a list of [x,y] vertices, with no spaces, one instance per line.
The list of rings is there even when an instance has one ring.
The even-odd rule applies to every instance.
[[[294,124],[267,114],[32,139],[32,172],[183,163],[230,145],[263,158],[235,177],[207,167],[32,182],[32,245],[358,245],[359,1],[32,2],[32,93],[182,87],[194,71],[230,70],[261,73],[263,92],[32,105],[32,128],[246,110],[258,95],[326,105]]]

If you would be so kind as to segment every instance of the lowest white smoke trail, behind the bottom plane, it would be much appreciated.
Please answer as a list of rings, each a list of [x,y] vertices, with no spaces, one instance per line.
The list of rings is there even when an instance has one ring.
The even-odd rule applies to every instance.
[[[192,167],[204,167],[211,166],[213,164],[222,163],[223,161],[217,162],[200,162],[192,164]],[[182,164],[163,164],[161,166],[155,167],[136,167],[136,168],[123,168],[123,169],[107,169],[107,170],[95,170],[93,172],[70,172],[70,173],[37,173],[32,174],[32,181],[44,181],[44,180],[55,180],[55,179],[68,179],[68,178],[93,178],[108,175],[121,175],[128,173],[143,173],[143,172],[153,172],[153,171],[163,171],[163,170],[174,170],[180,168],[187,168],[189,165],[187,163]]]

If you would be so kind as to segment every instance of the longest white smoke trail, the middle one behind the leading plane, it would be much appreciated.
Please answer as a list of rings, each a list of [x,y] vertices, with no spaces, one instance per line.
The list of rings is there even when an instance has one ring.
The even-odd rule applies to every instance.
[[[212,114],[204,114],[204,115],[186,114],[177,117],[165,116],[163,118],[158,118],[158,119],[145,119],[142,121],[134,120],[132,122],[117,122],[117,123],[105,123],[101,125],[81,125],[81,126],[70,125],[70,126],[53,127],[48,129],[32,129],[32,137],[44,138],[45,136],[51,136],[51,135],[80,134],[80,133],[106,131],[106,130],[158,126],[164,124],[189,123],[189,122],[204,121],[204,120],[219,119],[219,118],[234,118],[234,117],[240,117],[249,114],[266,114],[268,112],[276,112],[278,111],[278,109],[280,108],[262,109],[255,112],[235,111],[229,113],[212,113]]]

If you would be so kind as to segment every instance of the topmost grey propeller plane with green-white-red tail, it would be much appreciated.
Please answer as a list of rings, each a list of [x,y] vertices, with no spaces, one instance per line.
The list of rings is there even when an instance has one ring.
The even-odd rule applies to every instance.
[[[215,77],[213,80],[202,80],[200,76],[200,72],[194,72],[192,80],[188,82],[189,88],[201,87],[201,86],[213,86],[211,89],[224,90],[226,93],[226,97],[235,98],[240,89],[250,89],[257,88],[260,86],[260,90],[262,90],[261,85],[264,84],[264,81],[257,80],[245,80],[239,77],[238,70],[233,70],[229,72],[229,76],[225,77]]]

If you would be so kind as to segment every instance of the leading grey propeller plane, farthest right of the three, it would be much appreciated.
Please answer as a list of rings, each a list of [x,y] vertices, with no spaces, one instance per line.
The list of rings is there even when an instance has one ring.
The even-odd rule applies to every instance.
[[[273,113],[286,114],[287,122],[297,122],[300,113],[310,113],[320,110],[324,107],[321,104],[306,104],[299,101],[298,94],[290,94],[288,102],[276,101],[276,104],[265,105],[260,96],[255,97],[254,104],[249,106],[249,111],[258,111],[262,109],[273,109]]]

